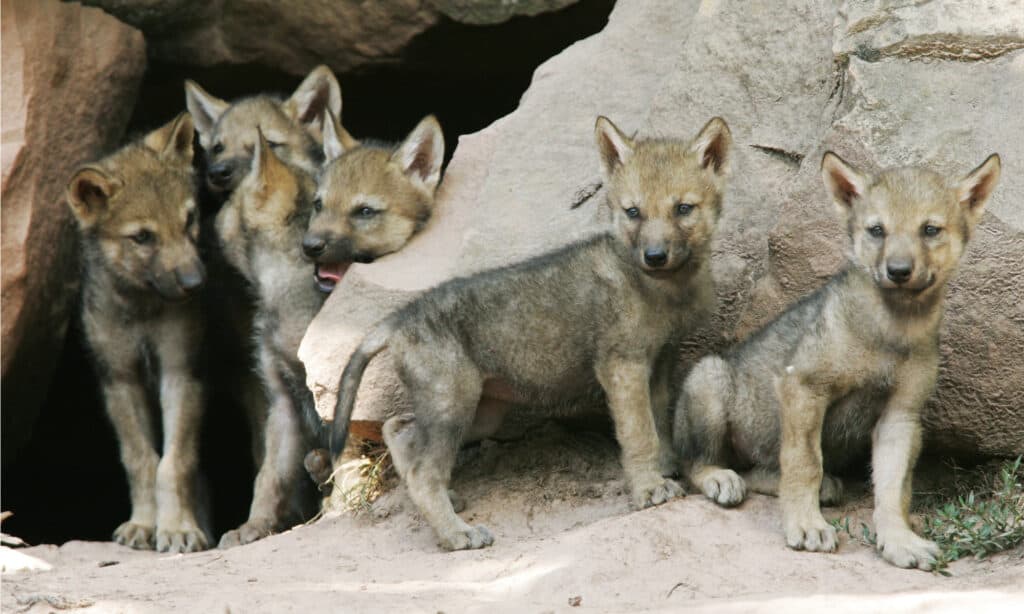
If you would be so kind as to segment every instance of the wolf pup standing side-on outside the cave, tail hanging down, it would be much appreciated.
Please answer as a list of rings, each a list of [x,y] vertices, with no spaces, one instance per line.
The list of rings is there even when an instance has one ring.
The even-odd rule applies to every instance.
[[[689,143],[633,140],[605,118],[595,132],[607,233],[427,291],[377,324],[341,376],[335,458],[367,363],[390,349],[415,414],[385,423],[384,439],[447,550],[494,541],[456,515],[447,492],[481,397],[549,405],[600,387],[634,505],[683,493],[663,477],[662,455],[671,453],[667,387],[674,342],[714,302],[709,258],[731,135],[718,118]]]

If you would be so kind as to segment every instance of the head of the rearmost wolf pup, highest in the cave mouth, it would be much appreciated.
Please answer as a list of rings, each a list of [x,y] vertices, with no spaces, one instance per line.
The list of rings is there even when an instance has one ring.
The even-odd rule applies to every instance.
[[[206,184],[226,196],[252,166],[257,127],[285,163],[315,173],[326,112],[341,115],[341,87],[321,65],[287,100],[263,94],[227,102],[185,81],[185,104],[206,152]]]

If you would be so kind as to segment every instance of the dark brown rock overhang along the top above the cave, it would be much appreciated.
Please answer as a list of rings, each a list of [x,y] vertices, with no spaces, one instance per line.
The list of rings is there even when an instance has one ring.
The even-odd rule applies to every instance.
[[[196,65],[262,63],[305,75],[396,60],[442,17],[498,24],[577,0],[84,0],[145,33],[150,55]]]

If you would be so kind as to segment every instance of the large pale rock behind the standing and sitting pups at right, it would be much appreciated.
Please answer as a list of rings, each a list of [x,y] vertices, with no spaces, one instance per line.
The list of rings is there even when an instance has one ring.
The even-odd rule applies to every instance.
[[[395,305],[594,231],[595,202],[568,207],[597,180],[595,115],[673,136],[722,115],[736,157],[715,251],[719,310],[686,344],[683,364],[740,339],[842,266],[845,233],[818,173],[826,148],[865,168],[926,164],[955,175],[998,150],[1004,178],[950,288],[926,424],[947,450],[1024,451],[1024,360],[1012,355],[1024,347],[1024,177],[1012,162],[1024,157],[1014,117],[1024,39],[1020,3],[982,4],[959,25],[954,16],[978,3],[618,2],[604,31],[537,71],[515,113],[460,140],[420,237],[349,269],[300,350],[322,413],[330,418],[361,334]],[[404,403],[385,353],[371,363],[354,416],[373,425]]]

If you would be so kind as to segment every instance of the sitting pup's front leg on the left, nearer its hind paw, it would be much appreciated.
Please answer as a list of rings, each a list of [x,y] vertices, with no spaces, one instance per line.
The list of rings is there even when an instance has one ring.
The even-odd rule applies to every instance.
[[[823,474],[821,429],[828,398],[797,372],[779,378],[776,393],[782,429],[778,497],[785,542],[796,550],[833,552],[836,529],[825,522],[818,506]]]

